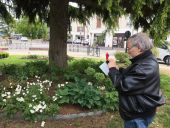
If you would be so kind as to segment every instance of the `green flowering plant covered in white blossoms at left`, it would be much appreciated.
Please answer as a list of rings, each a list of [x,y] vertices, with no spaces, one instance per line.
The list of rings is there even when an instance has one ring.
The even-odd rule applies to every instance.
[[[51,81],[36,78],[15,88],[12,83],[9,88],[1,86],[0,107],[7,117],[21,114],[26,120],[44,120],[58,111],[58,104],[48,95]]]

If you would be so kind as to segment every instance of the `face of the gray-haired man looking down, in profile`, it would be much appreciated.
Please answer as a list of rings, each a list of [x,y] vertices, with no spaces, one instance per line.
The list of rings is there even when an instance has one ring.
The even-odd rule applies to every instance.
[[[129,56],[132,58],[142,53],[141,50],[137,46],[132,45],[131,40],[127,41],[127,52]]]

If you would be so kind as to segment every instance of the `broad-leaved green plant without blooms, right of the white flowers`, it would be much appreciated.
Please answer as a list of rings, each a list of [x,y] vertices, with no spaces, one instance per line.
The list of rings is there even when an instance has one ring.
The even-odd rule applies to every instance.
[[[77,79],[75,83],[68,83],[60,87],[57,92],[57,102],[60,104],[79,104],[87,108],[99,108],[102,106],[100,91],[84,80]]]

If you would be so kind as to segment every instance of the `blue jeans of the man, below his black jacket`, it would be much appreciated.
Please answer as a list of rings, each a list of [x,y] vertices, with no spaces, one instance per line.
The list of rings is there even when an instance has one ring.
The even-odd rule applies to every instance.
[[[148,128],[154,116],[124,121],[124,128]]]

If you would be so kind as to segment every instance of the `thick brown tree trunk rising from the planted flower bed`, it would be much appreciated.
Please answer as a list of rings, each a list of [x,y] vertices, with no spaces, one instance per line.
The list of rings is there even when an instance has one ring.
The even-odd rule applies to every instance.
[[[50,1],[49,64],[67,66],[68,0]]]

